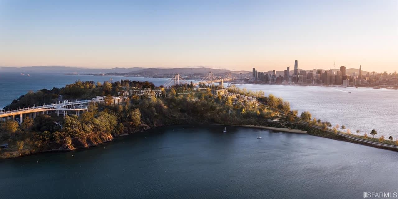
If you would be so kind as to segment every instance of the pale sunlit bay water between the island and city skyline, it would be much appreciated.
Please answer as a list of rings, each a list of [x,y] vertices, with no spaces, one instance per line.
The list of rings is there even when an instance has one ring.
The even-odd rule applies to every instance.
[[[292,109],[310,111],[313,117],[332,125],[345,125],[361,135],[376,129],[375,137],[391,135],[398,139],[398,90],[373,88],[334,88],[323,86],[283,86],[236,84],[239,88],[262,90],[290,102]]]

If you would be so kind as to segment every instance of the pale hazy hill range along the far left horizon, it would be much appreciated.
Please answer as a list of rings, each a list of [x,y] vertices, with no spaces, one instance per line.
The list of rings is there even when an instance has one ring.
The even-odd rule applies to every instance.
[[[26,66],[26,67],[0,67],[0,72],[23,72],[23,73],[125,73],[142,70],[142,67],[134,68],[80,68],[71,66]]]

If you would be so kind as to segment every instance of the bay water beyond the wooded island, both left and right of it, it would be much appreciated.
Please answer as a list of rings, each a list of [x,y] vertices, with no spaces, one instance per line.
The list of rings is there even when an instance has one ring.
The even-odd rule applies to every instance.
[[[22,76],[19,73],[0,73],[0,108],[29,90],[63,87],[76,80],[95,82],[121,79],[149,81],[156,86],[164,84],[164,78],[90,76],[64,74],[31,74]],[[274,94],[291,104],[292,109],[310,111],[313,117],[329,121],[332,125],[345,125],[352,133],[357,129],[361,134],[378,131],[376,137],[392,136],[398,138],[398,90],[373,88],[330,88],[320,86],[282,86],[266,84],[236,84],[248,90],[262,90],[266,95]],[[351,93],[349,93],[351,92]]]

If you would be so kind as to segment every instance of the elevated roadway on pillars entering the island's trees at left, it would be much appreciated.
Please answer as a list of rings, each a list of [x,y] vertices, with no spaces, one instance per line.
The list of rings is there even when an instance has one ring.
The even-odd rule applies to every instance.
[[[89,100],[73,100],[73,101],[68,101],[65,103],[55,103],[55,104],[49,104],[49,105],[42,105],[42,106],[35,106],[35,107],[29,107],[29,108],[23,108],[23,109],[18,109],[18,110],[12,110],[12,111],[1,111],[0,112],[0,118],[1,119],[8,119],[8,117],[12,116],[12,119],[15,120],[15,116],[19,115],[20,117],[20,123],[23,121],[23,116],[27,114],[32,115],[33,117],[36,117],[36,114],[39,114],[40,112],[44,114],[48,114],[48,111],[57,111],[57,115],[59,115],[60,111],[62,111],[62,114],[65,116],[68,114],[68,111],[75,111],[76,115],[80,115],[80,111],[87,110],[87,106],[81,106],[81,107],[76,107],[76,105],[83,105],[87,104]]]

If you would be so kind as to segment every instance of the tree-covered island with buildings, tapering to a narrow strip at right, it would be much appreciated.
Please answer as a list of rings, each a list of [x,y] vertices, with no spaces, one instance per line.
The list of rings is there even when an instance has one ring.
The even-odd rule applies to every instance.
[[[116,137],[172,125],[237,125],[307,133],[398,151],[398,140],[360,135],[288,101],[235,86],[151,82],[76,81],[63,88],[29,92],[0,112],[0,158],[98,146]]]

